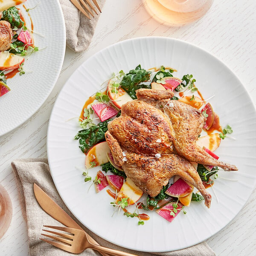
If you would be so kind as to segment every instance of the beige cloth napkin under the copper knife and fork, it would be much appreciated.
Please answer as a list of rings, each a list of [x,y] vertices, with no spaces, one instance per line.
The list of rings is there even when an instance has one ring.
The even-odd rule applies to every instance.
[[[38,184],[65,212],[67,212],[90,236],[93,237],[102,246],[122,250],[128,253],[133,253],[139,256],[214,256],[215,253],[206,242],[196,244],[192,247],[165,253],[146,253],[134,250],[128,250],[111,244],[108,241],[93,234],[90,230],[84,227],[67,209],[61,197],[54,186],[47,159],[25,159],[15,160],[12,162],[12,169],[14,171],[17,188],[20,197],[21,209],[23,216],[27,221],[28,235],[29,235],[29,251],[31,256],[65,256],[70,255],[63,250],[60,250],[39,238],[41,236],[43,225],[63,226],[58,221],[50,217],[36,201],[33,185]],[[100,256],[100,254],[92,249],[87,249],[81,255],[86,256]]]

